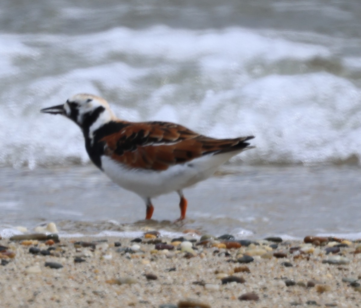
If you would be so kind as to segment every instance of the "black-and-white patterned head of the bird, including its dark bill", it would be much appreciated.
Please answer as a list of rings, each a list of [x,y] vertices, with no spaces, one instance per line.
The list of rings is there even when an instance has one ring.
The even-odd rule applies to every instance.
[[[83,129],[116,119],[105,99],[91,94],[75,94],[65,104],[44,108],[40,112],[66,116]]]

